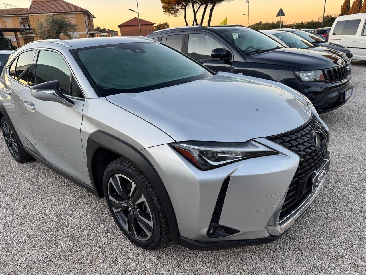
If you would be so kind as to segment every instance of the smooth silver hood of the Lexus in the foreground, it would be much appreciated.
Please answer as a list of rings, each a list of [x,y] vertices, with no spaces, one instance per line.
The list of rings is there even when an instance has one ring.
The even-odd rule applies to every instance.
[[[190,83],[106,98],[176,141],[244,142],[291,131],[310,119],[306,100],[277,84],[218,73]]]

